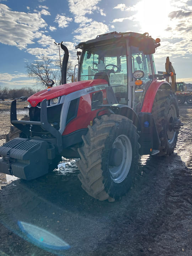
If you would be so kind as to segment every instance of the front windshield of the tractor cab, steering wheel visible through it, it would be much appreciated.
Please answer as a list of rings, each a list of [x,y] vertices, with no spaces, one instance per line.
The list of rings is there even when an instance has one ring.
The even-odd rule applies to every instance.
[[[79,81],[105,79],[116,94],[119,103],[127,104],[126,44],[87,48],[84,50]]]

